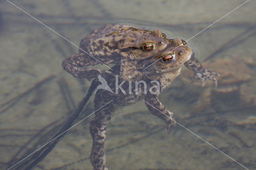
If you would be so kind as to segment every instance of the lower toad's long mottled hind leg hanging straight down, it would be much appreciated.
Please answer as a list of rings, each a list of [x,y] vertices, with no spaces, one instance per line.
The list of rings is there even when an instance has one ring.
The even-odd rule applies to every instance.
[[[96,110],[100,107],[96,107]],[[107,134],[106,125],[111,119],[112,111],[113,105],[110,103],[97,111],[95,117],[90,121],[90,133],[93,139],[90,161],[94,170],[108,170],[103,149]]]

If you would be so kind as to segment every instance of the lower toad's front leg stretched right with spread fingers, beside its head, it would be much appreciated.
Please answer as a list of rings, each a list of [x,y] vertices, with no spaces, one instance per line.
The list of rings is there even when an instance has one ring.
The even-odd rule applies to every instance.
[[[206,79],[212,80],[214,82],[215,87],[217,87],[218,82],[214,75],[220,76],[219,73],[216,73],[215,71],[210,71],[205,69],[202,64],[194,57],[194,51],[193,54],[191,55],[190,59],[184,63],[184,65],[194,71],[193,75],[193,82],[197,79],[201,81],[202,87],[204,87],[204,81]]]

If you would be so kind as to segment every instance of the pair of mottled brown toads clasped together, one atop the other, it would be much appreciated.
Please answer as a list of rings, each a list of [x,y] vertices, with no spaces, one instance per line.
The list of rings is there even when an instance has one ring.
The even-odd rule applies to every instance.
[[[199,79],[202,86],[205,79],[214,81],[217,86],[214,75],[218,73],[204,69],[186,42],[179,38],[167,39],[157,29],[107,25],[82,39],[79,52],[65,59],[62,67],[74,77],[91,79],[102,75],[111,89],[99,89],[96,92],[96,112],[90,122],[93,138],[90,160],[97,170],[107,169],[103,147],[106,125],[115,106],[144,100],[149,111],[165,121],[168,132],[176,122],[173,113],[158,100],[158,95],[180,74],[183,65],[194,71],[193,79]],[[115,66],[110,70],[87,67],[98,63]],[[93,81],[91,87],[96,89],[99,84]]]

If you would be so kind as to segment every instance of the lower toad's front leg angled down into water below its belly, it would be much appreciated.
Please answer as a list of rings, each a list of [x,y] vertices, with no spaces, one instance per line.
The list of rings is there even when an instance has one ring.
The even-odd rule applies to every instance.
[[[168,132],[171,126],[176,126],[176,121],[173,117],[173,113],[168,111],[164,105],[158,100],[158,94],[148,93],[145,98],[146,107],[151,114],[164,120],[166,123],[165,133]]]

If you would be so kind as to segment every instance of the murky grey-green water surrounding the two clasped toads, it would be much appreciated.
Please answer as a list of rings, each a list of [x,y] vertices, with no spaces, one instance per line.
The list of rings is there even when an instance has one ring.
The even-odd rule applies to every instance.
[[[110,170],[245,169],[234,160],[256,169],[256,3],[250,0],[228,14],[243,2],[12,1],[76,45],[92,30],[120,22],[158,28],[170,38],[193,37],[188,44],[196,57],[221,73],[217,88],[210,81],[202,88],[190,83],[192,72],[184,68],[160,94],[176,121],[194,134],[180,125],[164,134],[164,122],[142,101],[119,108],[105,143]],[[77,47],[9,2],[0,4],[0,169],[7,169],[51,139],[90,81],[62,69],[62,60]],[[93,111],[91,97],[76,122]],[[92,169],[92,117],[70,129],[34,169]]]

